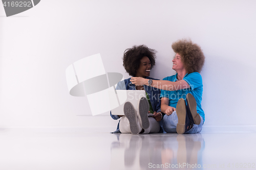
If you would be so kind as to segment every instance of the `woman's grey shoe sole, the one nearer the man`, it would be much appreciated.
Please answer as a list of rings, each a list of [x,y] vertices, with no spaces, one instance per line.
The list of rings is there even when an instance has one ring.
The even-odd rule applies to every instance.
[[[148,104],[146,98],[141,98],[138,106],[139,116],[141,119],[141,127],[142,129],[147,129],[150,127],[150,121],[148,120],[148,110],[150,110],[150,104]]]

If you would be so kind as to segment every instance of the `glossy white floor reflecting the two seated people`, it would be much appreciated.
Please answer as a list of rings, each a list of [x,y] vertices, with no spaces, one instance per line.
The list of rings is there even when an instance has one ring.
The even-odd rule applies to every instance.
[[[256,169],[255,132],[114,130],[0,128],[0,169]]]

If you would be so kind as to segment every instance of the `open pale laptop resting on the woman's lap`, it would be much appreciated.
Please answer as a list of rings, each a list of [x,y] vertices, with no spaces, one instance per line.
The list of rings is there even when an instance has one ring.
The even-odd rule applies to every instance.
[[[146,97],[145,90],[110,90],[111,114],[124,115],[123,106],[125,102],[131,102],[135,110],[137,110],[139,100],[142,97]]]

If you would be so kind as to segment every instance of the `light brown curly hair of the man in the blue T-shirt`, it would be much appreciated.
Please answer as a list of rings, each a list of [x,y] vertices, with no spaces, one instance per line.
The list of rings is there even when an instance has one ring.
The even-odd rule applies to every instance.
[[[180,39],[172,44],[175,53],[179,53],[181,61],[188,73],[200,72],[204,65],[204,54],[198,44],[190,39]]]

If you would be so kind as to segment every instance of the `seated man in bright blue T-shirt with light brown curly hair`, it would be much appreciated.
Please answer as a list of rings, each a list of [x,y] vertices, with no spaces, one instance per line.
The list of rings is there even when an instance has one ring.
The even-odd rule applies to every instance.
[[[199,74],[204,64],[204,54],[191,40],[178,40],[172,44],[176,53],[173,69],[176,75],[163,80],[132,77],[135,85],[151,85],[161,89],[163,128],[166,132],[198,133],[204,123],[201,107],[203,83]]]

